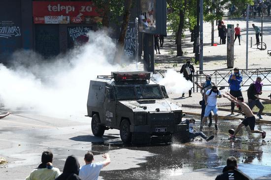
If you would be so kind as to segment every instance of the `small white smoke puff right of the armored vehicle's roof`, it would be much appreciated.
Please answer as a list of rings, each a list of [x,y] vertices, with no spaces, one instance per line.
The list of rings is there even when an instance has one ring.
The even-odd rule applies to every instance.
[[[187,81],[183,74],[174,69],[168,69],[164,78],[158,74],[154,74],[154,78],[158,84],[164,85],[166,90],[172,93],[184,93],[193,87],[191,81]]]

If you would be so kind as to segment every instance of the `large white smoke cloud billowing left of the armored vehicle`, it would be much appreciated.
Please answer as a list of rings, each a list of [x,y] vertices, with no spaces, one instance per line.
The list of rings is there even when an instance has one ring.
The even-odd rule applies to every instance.
[[[115,43],[104,31],[89,32],[89,42],[54,60],[34,52],[13,55],[10,68],[0,64],[0,103],[9,110],[35,109],[71,115],[86,111],[89,81],[119,69],[111,65]]]

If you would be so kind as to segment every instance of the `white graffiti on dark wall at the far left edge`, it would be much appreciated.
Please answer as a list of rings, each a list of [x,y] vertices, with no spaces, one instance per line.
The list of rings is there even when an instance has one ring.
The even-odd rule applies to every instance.
[[[19,26],[16,26],[12,21],[0,22],[0,37],[10,38],[21,36],[21,30]]]

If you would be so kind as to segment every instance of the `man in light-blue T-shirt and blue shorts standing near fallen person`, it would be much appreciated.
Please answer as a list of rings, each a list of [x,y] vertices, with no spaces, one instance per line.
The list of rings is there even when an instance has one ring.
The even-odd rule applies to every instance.
[[[221,92],[220,90],[217,89],[217,86],[212,86],[212,89],[207,90],[206,93],[204,94],[204,100],[205,100],[205,113],[204,113],[204,117],[203,117],[203,121],[200,127],[200,131],[203,131],[203,125],[207,119],[207,117],[209,116],[209,114],[211,113],[211,111],[214,114],[214,120],[215,120],[215,130],[218,130],[218,126],[217,126],[217,120],[218,120],[218,107],[217,107],[217,98],[221,98]]]

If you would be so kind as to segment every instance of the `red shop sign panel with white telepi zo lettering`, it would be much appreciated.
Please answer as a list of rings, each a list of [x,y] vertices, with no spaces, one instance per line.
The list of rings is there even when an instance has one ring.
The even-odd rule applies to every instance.
[[[33,1],[33,16],[101,16],[93,2],[88,1]]]

